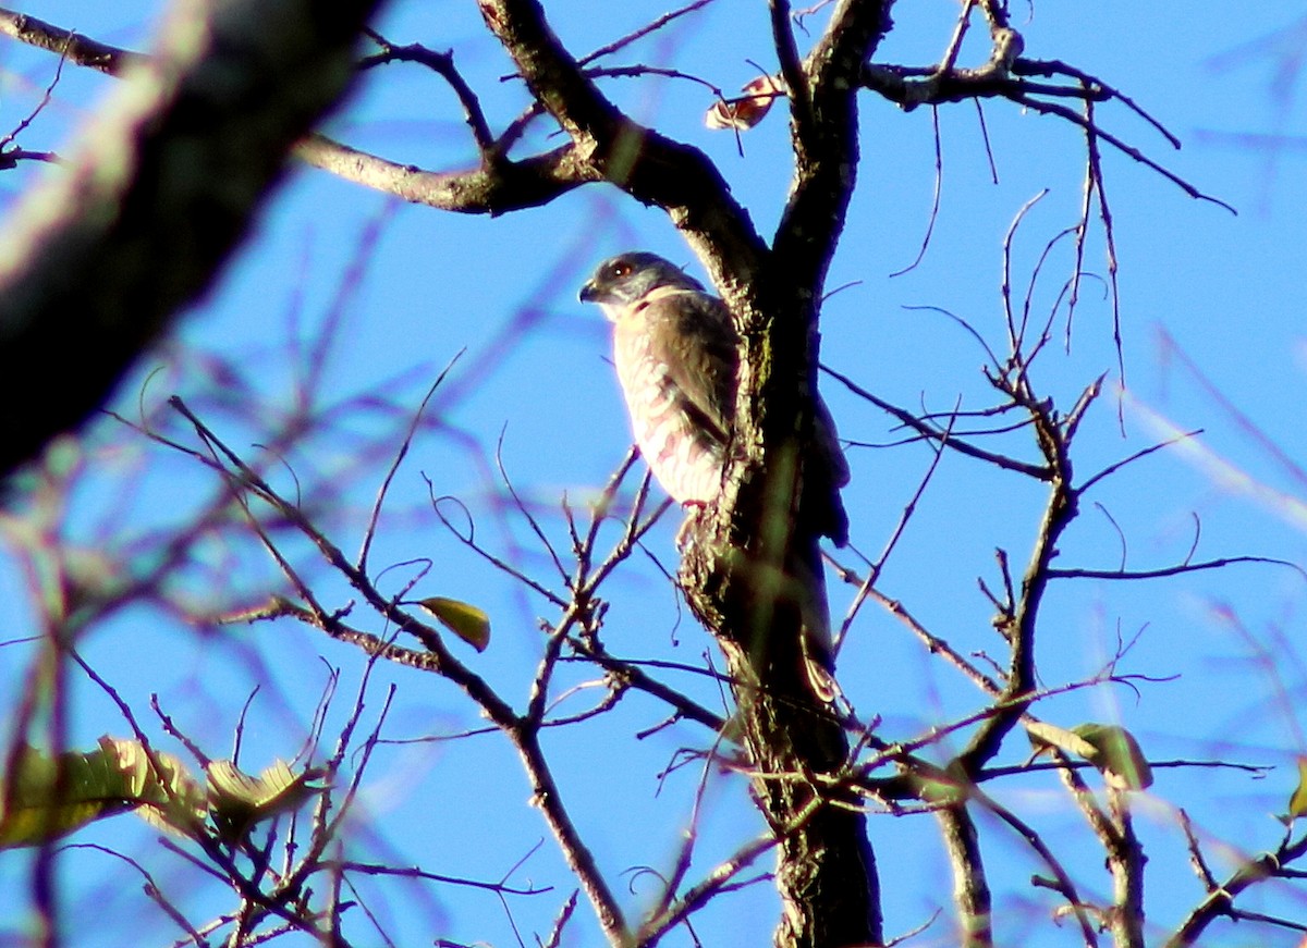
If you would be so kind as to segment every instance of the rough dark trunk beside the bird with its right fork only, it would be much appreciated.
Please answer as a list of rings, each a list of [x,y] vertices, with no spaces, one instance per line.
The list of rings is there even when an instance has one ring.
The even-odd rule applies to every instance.
[[[682,564],[691,607],[725,648],[767,820],[782,834],[776,883],[784,915],[778,945],[836,948],[884,940],[876,861],[860,812],[819,806],[808,774],[833,773],[847,736],[801,671],[795,595],[821,582],[821,551],[800,509],[802,449],[812,443],[817,316],[826,268],[856,179],[856,87],[889,17],[880,0],[844,0],[802,63],[788,9],[772,4],[776,48],[791,86],[796,168],[769,265],[736,300],[741,359],[736,464],[718,517]],[[732,496],[733,495],[733,496]],[[804,595],[800,593],[799,595]],[[796,825],[801,829],[796,830]]]

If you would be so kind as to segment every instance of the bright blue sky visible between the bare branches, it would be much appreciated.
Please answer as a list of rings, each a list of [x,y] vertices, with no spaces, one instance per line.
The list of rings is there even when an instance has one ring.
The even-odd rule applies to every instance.
[[[21,9],[133,47],[144,46],[153,16],[149,4],[110,12],[94,4],[52,1],[26,3]],[[629,3],[620,10],[600,3],[549,5],[557,31],[578,51],[663,12],[665,7],[657,3]],[[1272,3],[1247,4],[1236,14],[1227,4],[1214,3],[1106,3],[1095,4],[1093,12],[1044,3],[1033,8],[1029,22],[1025,10],[1014,13],[1029,56],[1061,59],[1102,77],[1162,120],[1184,148],[1170,151],[1120,106],[1100,107],[1104,127],[1239,210],[1233,215],[1193,201],[1129,158],[1106,153],[1129,385],[1121,409],[1124,436],[1116,420],[1111,309],[1102,299],[1100,281],[1086,282],[1070,354],[1057,350],[1042,356],[1036,383],[1069,407],[1081,388],[1108,372],[1108,392],[1082,434],[1081,477],[1172,430],[1201,427],[1205,434],[1201,450],[1165,452],[1104,482],[1086,500],[1099,501],[1106,513],[1084,512],[1063,546],[1064,563],[1116,565],[1121,539],[1115,521],[1127,538],[1132,568],[1170,565],[1189,550],[1196,514],[1201,521],[1196,559],[1255,554],[1302,564],[1307,559],[1304,522],[1274,492],[1300,500],[1307,487],[1300,471],[1277,460],[1248,427],[1256,426],[1256,434],[1287,458],[1300,461],[1307,454],[1302,426],[1307,372],[1302,145],[1307,128],[1303,106],[1293,95],[1295,84],[1278,93],[1274,86],[1278,47],[1257,43],[1283,35],[1277,31],[1287,30],[1291,14]],[[882,59],[932,61],[954,16],[953,4],[921,10],[903,5],[899,29],[885,44]],[[397,4],[382,31],[395,42],[452,47],[497,127],[521,107],[521,90],[499,81],[510,68],[472,4]],[[971,47],[967,52],[974,59],[984,55]],[[770,63],[765,8],[719,0],[633,47],[620,61],[635,59],[703,74],[731,90],[757,74],[746,60]],[[13,127],[27,112],[52,67],[46,55],[0,42],[0,128]],[[98,74],[65,71],[51,108],[21,144],[56,148],[93,111],[97,97],[112,87],[111,80]],[[742,137],[740,155],[732,136],[703,128],[702,114],[711,99],[694,84],[612,80],[605,90],[642,121],[704,149],[759,229],[771,231],[789,178],[779,111]],[[822,354],[833,368],[906,407],[946,410],[959,398],[966,407],[987,403],[988,387],[979,372],[983,351],[953,320],[923,307],[965,319],[989,345],[1000,346],[1001,242],[1013,217],[1036,193],[1048,191],[1014,239],[1014,283],[1023,289],[1044,244],[1078,214],[1081,136],[1061,121],[1021,114],[1006,103],[987,103],[984,115],[1000,183],[991,182],[974,108],[941,110],[945,175],[938,219],[921,264],[891,277],[914,260],[928,226],[935,138],[928,111],[903,114],[870,95],[863,101],[860,189],[829,281],[829,289],[852,286],[825,308]],[[370,77],[328,132],[433,170],[457,167],[472,157],[452,95],[417,67],[389,65]],[[1240,138],[1252,134],[1282,136],[1283,148],[1273,151]],[[528,144],[544,141],[537,136]],[[0,176],[0,202],[9,204],[38,174],[24,168]],[[1099,231],[1090,240],[1086,269],[1103,276],[1100,238]],[[467,556],[431,514],[422,474],[437,494],[457,496],[467,505],[488,545],[527,569],[544,569],[538,545],[520,518],[503,509],[503,490],[493,477],[495,443],[502,444],[502,462],[515,486],[536,504],[550,537],[565,545],[558,499],[565,491],[578,504],[595,496],[629,444],[605,362],[606,332],[597,311],[576,302],[576,287],[597,260],[634,247],[685,262],[702,276],[659,212],[609,188],[584,188],[549,208],[491,221],[397,205],[322,172],[297,170],[210,298],[187,317],[178,341],[142,363],[137,377],[123,387],[118,407],[133,414],[142,401],[157,407],[178,392],[212,413],[207,418],[233,444],[256,454],[248,445],[268,440],[310,362],[323,373],[328,403],[367,396],[372,403],[384,398],[412,410],[423,388],[461,353],[434,402],[439,424],[423,432],[401,467],[374,563],[431,558],[431,573],[418,586],[422,594],[455,595],[486,608],[495,628],[491,648],[484,656],[468,652],[464,657],[520,701],[540,649],[536,616],[550,612],[540,599]],[[361,266],[353,269],[359,260]],[[1069,256],[1063,251],[1035,290],[1035,312],[1047,311],[1068,273]],[[325,356],[305,358],[328,323],[337,329]],[[512,326],[529,329],[511,332]],[[1189,364],[1248,422],[1213,397]],[[166,371],[144,385],[157,366]],[[223,380],[216,366],[237,373],[240,385]],[[897,440],[876,409],[830,380],[823,390],[842,436],[860,443]],[[365,409],[288,452],[286,465],[306,490],[316,487],[329,498],[320,507],[322,516],[346,548],[357,547],[383,470],[379,458],[393,445],[396,419]],[[97,447],[88,454],[90,473],[76,495],[68,533],[110,559],[125,554],[120,546],[105,546],[107,534],[140,534],[186,522],[216,490],[195,465],[145,447],[110,422],[93,434]],[[929,454],[907,445],[851,448],[848,456],[853,483],[846,503],[853,516],[853,543],[874,555],[923,477]],[[1233,479],[1231,470],[1246,479]],[[274,469],[272,477],[293,490],[286,469]],[[995,581],[996,546],[1008,548],[1014,563],[1023,560],[1040,501],[1038,488],[1010,474],[1000,477],[965,458],[946,457],[884,573],[884,592],[963,652],[1001,654],[976,577]],[[674,520],[667,518],[648,543],[651,558],[669,569],[674,568]],[[201,603],[252,602],[276,581],[267,558],[233,537],[225,530],[207,539],[179,582],[178,597]],[[305,548],[295,548],[295,555],[310,561]],[[608,590],[613,601],[608,641],[620,654],[694,663],[707,649],[707,637],[677,606],[651,558],[627,564]],[[395,588],[408,575],[396,571]],[[30,627],[33,605],[13,561],[0,567],[0,584],[8,593],[0,614],[4,627]],[[328,599],[337,605],[349,598],[329,578],[323,588],[333,590]],[[1064,582],[1051,595],[1039,641],[1046,684],[1093,674],[1111,654],[1117,635],[1131,639],[1136,633],[1138,641],[1123,670],[1167,680],[1141,683],[1137,695],[1116,688],[1053,699],[1043,708],[1050,719],[1067,726],[1119,719],[1157,759],[1223,756],[1277,766],[1260,781],[1221,770],[1159,772],[1137,811],[1150,847],[1155,931],[1200,898],[1176,830],[1176,807],[1193,815],[1218,864],[1222,851],[1256,851],[1277,841],[1278,824],[1268,814],[1283,808],[1294,782],[1293,755],[1307,751],[1293,717],[1304,679],[1302,650],[1295,646],[1303,631],[1304,589],[1307,582],[1293,569],[1236,565],[1149,584]],[[836,590],[834,599],[842,608],[848,595]],[[357,654],[288,623],[197,631],[145,608],[119,615],[86,642],[85,652],[140,708],[150,692],[158,692],[216,755],[229,746],[250,688],[261,682],[254,723],[246,733],[251,766],[299,750],[325,676],[319,653],[344,670],[342,692],[353,693],[361,674]],[[12,693],[24,661],[20,649],[0,649],[4,693]],[[1273,697],[1268,665],[1278,669],[1283,700]],[[591,676],[580,670],[567,675],[569,682]],[[376,678],[399,686],[384,736],[447,736],[476,725],[465,703],[440,683],[382,669]],[[842,654],[840,680],[865,716],[882,716],[884,734],[894,738],[916,735],[979,706],[980,696],[970,684],[925,656],[887,615],[870,608]],[[380,682],[370,691],[378,701]],[[698,682],[678,684],[716,703],[714,689]],[[576,709],[586,700],[572,699],[575,704],[565,708]],[[74,733],[84,746],[102,733],[122,731],[114,709],[93,688],[78,691],[76,709]],[[631,881],[633,906],[640,892],[652,888],[642,888],[648,879],[633,872],[634,867],[669,867],[699,776],[694,768],[678,770],[660,790],[656,774],[677,748],[706,743],[703,734],[684,726],[634,740],[637,731],[663,717],[655,703],[630,699],[592,726],[557,733],[549,744],[601,864],[623,893],[626,880]],[[1005,763],[1018,763],[1019,753],[1019,748],[1010,750]],[[365,791],[369,819],[361,821],[358,846],[375,858],[495,879],[546,837],[537,814],[524,804],[527,793],[511,752],[495,736],[387,746],[378,753]],[[1098,868],[1100,854],[1055,781],[1021,781],[996,793],[1038,817],[1050,838],[1064,847],[1068,862],[1091,880],[1091,892],[1107,892],[1108,880]],[[742,781],[714,777],[706,799],[706,832],[695,861],[699,872],[759,829]],[[927,820],[870,820],[887,876],[887,924],[895,934],[946,905],[942,857]],[[985,829],[987,859],[1002,893],[1004,943],[1073,944],[1074,932],[1047,923],[1050,902],[1025,884],[1035,868],[1029,853],[999,828]],[[128,817],[84,836],[142,859],[159,858],[153,837],[128,825]],[[72,904],[105,906],[105,931],[86,934],[85,943],[123,943],[127,919],[149,911],[139,887],[135,881],[119,885],[112,872],[122,867],[103,854],[73,853],[68,866]],[[0,858],[0,918],[14,919],[0,926],[0,944],[21,930],[13,900],[24,868],[21,855]],[[196,884],[178,867],[173,876],[161,871],[175,880],[180,897],[191,900],[197,913],[223,906],[221,893]],[[515,876],[527,877],[558,887],[548,896],[512,902],[523,931],[544,932],[569,891],[550,840]],[[421,943],[418,932],[468,943],[512,943],[498,902],[484,893],[435,887],[372,897],[374,908],[380,906],[406,943]],[[728,896],[704,913],[699,934],[708,944],[762,944],[775,919],[772,901],[767,884]],[[1252,906],[1307,917],[1300,894],[1278,889],[1268,892],[1265,901],[1255,898]],[[583,906],[580,914],[584,918],[578,919],[570,944],[599,944],[588,909]],[[948,944],[944,926],[936,923],[916,944]],[[163,922],[150,931],[157,943],[171,935]],[[1257,932],[1263,936],[1266,940],[1260,944],[1294,943],[1289,935]],[[1235,944],[1247,943],[1249,935],[1218,927],[1213,938],[1213,944]],[[77,943],[84,943],[81,936]],[[689,940],[678,932],[668,943]]]

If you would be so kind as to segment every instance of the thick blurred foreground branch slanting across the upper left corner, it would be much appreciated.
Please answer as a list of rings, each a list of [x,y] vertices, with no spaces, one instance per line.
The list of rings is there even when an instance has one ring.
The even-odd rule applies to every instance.
[[[344,91],[376,5],[184,8],[67,172],[26,195],[0,245],[0,401],[22,406],[0,422],[0,473],[94,411],[209,287],[290,146]],[[0,14],[10,35],[34,29]],[[35,389],[34,367],[51,370]]]

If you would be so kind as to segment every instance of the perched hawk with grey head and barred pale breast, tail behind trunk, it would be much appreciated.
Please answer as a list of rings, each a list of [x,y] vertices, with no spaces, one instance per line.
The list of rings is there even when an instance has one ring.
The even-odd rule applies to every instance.
[[[580,299],[597,303],[613,324],[617,379],[635,443],[654,477],[682,505],[714,504],[721,492],[738,387],[738,333],[725,303],[678,266],[643,252],[601,262],[580,289]],[[818,398],[813,409],[805,507],[814,530],[843,546],[848,520],[839,488],[848,483],[848,465],[825,403]],[[813,659],[819,669],[810,675],[814,687],[829,692],[830,619],[821,561],[795,565],[791,572],[809,576],[812,581],[804,585],[816,586],[812,595],[819,597],[801,603],[812,640],[805,652],[817,653]],[[827,684],[817,680],[821,676]]]

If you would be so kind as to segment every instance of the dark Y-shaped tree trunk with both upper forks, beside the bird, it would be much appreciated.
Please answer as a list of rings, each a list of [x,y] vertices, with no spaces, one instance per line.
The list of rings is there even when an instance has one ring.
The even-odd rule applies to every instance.
[[[538,3],[481,0],[481,10],[578,151],[606,180],[667,210],[738,323],[735,456],[718,511],[694,531],[681,582],[727,654],[758,800],[780,838],[776,944],[878,944],[880,893],[864,817],[814,804],[806,778],[843,766],[848,744],[802,671],[795,606],[802,594],[786,585],[796,572],[818,582],[822,575],[817,533],[799,509],[800,445],[812,443],[817,304],[855,183],[859,78],[889,3],[839,3],[804,63],[784,61],[793,37],[787,8],[774,4],[783,65],[802,78],[791,95],[796,176],[772,248],[706,155],[637,125],[586,80]]]

